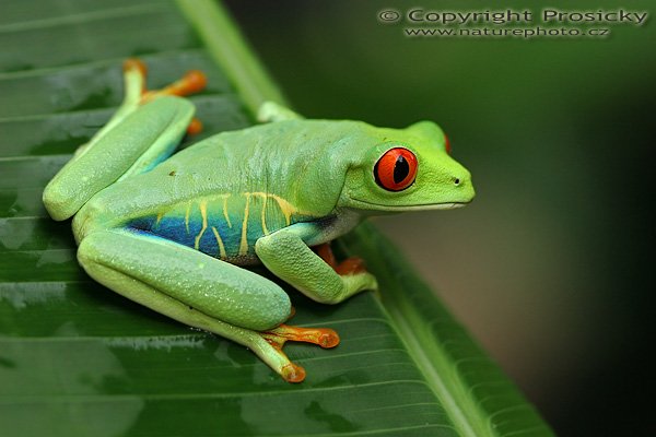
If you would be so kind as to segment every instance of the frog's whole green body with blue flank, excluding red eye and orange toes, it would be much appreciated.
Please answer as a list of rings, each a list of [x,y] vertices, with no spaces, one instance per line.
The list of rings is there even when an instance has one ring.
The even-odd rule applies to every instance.
[[[126,72],[124,104],[49,182],[44,204],[55,220],[74,216],[78,260],[94,280],[248,346],[280,374],[290,362],[261,331],[290,318],[290,299],[243,265],[261,262],[312,299],[336,304],[376,290],[376,280],[340,275],[309,247],[370,215],[450,209],[473,198],[469,172],[448,156],[433,122],[387,129],[306,120],[272,103],[261,107],[265,123],[162,162],[195,108],[174,96],[141,104],[142,84]],[[387,191],[373,169],[398,146],[417,156],[417,178]]]

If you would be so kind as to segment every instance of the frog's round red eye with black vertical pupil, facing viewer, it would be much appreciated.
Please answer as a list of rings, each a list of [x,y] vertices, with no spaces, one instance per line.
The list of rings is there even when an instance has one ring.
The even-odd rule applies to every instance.
[[[417,157],[408,149],[390,149],[376,163],[374,176],[376,184],[388,191],[405,190],[414,182]]]

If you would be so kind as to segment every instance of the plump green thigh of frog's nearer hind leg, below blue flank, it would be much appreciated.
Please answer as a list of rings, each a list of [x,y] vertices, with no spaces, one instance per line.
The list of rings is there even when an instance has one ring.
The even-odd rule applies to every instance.
[[[199,322],[209,317],[261,331],[282,323],[291,314],[289,296],[271,281],[147,234],[93,233],[82,240],[78,259],[93,279],[115,292],[223,336],[232,338]]]

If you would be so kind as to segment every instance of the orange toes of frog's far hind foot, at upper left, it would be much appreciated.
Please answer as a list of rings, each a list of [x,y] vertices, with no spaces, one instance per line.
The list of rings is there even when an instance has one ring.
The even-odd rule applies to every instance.
[[[145,104],[152,101],[155,97],[163,95],[176,95],[176,96],[186,96],[190,94],[198,93],[202,91],[207,83],[208,79],[206,74],[200,70],[191,70],[185,73],[185,75],[174,83],[161,88],[161,90],[148,90],[145,86],[145,78],[148,74],[148,68],[145,63],[143,63],[140,59],[130,58],[124,62],[124,71],[136,71],[142,78],[142,87],[141,87],[141,101],[140,104]],[[187,128],[187,133],[196,134],[202,131],[202,123],[198,118],[194,118]]]

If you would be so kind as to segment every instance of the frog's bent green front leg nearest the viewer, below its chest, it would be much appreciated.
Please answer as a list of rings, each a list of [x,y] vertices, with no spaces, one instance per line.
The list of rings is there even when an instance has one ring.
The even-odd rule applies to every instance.
[[[312,251],[305,241],[315,235],[315,227],[297,223],[262,237],[255,245],[257,256],[273,274],[319,303],[337,304],[359,292],[378,288],[374,275],[356,262],[336,269]]]

